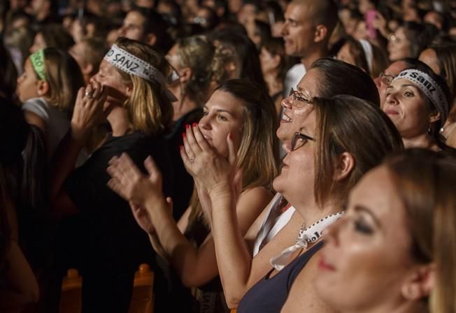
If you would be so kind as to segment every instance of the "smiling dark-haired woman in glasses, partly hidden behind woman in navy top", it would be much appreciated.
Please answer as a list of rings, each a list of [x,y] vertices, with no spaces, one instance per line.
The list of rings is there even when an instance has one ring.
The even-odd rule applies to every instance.
[[[364,85],[364,88],[359,88]],[[315,61],[299,82],[298,90],[292,90],[283,102],[283,117],[277,136],[290,141],[302,122],[311,112],[310,99],[314,96],[331,97],[335,94],[352,94],[378,105],[378,92],[369,75],[361,69],[336,59]],[[218,214],[220,210],[214,211]],[[231,223],[225,224],[226,226]],[[234,223],[234,221],[231,221]],[[232,271],[222,279],[225,298],[229,307],[237,307],[244,293],[271,268],[269,259],[292,245],[303,224],[301,216],[288,205],[280,193],[264,208],[248,233],[242,238],[233,228],[225,235],[216,237],[215,247],[220,255],[230,255],[225,261],[232,262]],[[223,226],[225,227],[225,226]],[[245,243],[248,247],[245,247]],[[229,268],[228,268],[229,269]],[[230,270],[230,269],[229,269]]]

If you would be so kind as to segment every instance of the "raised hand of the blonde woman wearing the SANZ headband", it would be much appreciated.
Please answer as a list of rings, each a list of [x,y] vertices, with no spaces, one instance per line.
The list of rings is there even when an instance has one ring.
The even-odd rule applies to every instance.
[[[74,139],[84,140],[106,118],[103,111],[105,101],[106,92],[99,82],[90,82],[87,87],[79,89],[71,118]]]

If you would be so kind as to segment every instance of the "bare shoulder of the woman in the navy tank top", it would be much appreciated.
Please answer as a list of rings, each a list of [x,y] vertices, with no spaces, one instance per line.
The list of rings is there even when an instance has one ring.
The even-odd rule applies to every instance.
[[[316,252],[306,266],[299,272],[294,280],[287,301],[283,305],[283,313],[307,312],[307,313],[335,313],[318,297],[313,286],[313,281],[318,275],[318,261],[320,251]]]

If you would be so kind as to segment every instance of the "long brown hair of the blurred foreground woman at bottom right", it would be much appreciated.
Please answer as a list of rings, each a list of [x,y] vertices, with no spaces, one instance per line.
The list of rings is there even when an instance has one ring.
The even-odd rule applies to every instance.
[[[456,312],[455,159],[414,148],[389,157],[385,165],[408,214],[411,255],[436,265],[431,312]]]

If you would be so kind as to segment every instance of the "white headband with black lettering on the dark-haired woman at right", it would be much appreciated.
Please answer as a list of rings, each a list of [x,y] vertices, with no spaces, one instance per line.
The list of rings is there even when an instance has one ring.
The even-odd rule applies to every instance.
[[[401,71],[401,73],[399,73],[399,75],[397,75],[392,82],[401,79],[409,80],[420,88],[420,90],[427,96],[427,98],[429,98],[432,104],[440,112],[440,122],[441,125],[443,125],[446,121],[446,117],[448,116],[449,108],[446,96],[439,84],[437,84],[437,82],[427,73],[416,69]]]

